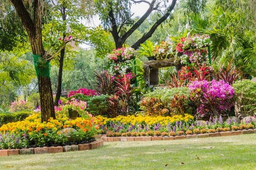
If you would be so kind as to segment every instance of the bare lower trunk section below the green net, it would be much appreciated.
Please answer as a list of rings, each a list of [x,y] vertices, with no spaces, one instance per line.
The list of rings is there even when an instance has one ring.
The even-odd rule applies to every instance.
[[[38,76],[38,88],[41,102],[41,122],[47,122],[50,117],[55,119],[51,79]]]

